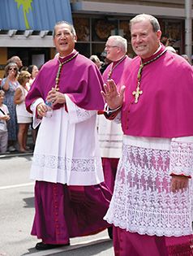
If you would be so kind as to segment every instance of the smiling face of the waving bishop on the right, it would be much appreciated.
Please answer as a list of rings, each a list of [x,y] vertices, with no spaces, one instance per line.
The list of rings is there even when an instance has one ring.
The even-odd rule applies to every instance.
[[[152,24],[148,20],[139,21],[131,25],[131,45],[135,54],[147,59],[154,54],[161,39],[161,31],[153,32]]]

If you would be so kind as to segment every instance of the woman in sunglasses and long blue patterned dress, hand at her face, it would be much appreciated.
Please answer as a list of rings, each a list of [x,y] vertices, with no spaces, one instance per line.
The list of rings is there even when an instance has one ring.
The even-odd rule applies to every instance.
[[[15,89],[19,86],[17,81],[18,66],[16,63],[8,63],[5,67],[5,78],[2,79],[1,89],[5,92],[4,104],[8,107],[11,119],[7,122],[8,150],[15,151],[17,141],[17,118],[14,104]]]

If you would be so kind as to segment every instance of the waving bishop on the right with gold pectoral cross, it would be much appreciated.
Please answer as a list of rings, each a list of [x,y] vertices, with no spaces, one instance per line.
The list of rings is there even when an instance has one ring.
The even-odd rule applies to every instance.
[[[122,158],[105,215],[116,256],[193,255],[193,70],[160,37],[152,15],[131,20],[138,56],[126,87],[116,94],[110,80],[103,93],[111,111],[122,106]]]

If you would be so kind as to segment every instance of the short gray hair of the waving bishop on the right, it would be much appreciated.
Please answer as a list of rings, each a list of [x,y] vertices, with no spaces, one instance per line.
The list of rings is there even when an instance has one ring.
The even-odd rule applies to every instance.
[[[155,18],[152,15],[147,15],[144,13],[136,15],[133,19],[130,20],[130,29],[131,29],[132,24],[135,24],[140,21],[145,21],[145,20],[148,20],[152,24],[153,32],[157,32],[158,30],[161,30],[161,27],[160,27],[160,24],[159,24],[157,18]]]

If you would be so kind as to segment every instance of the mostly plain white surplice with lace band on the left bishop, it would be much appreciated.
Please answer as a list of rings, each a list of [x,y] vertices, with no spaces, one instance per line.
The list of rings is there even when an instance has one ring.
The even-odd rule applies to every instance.
[[[37,99],[32,111],[36,111]],[[66,96],[62,107],[45,117],[36,138],[31,178],[62,184],[92,185],[104,181],[97,142],[97,111],[85,111]],[[34,119],[34,124],[38,124]]]

